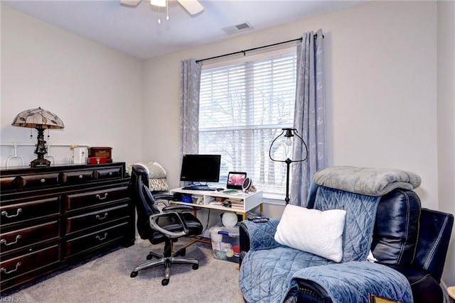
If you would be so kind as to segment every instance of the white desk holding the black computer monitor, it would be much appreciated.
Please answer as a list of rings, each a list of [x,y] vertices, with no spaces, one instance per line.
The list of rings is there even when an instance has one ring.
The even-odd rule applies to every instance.
[[[234,194],[225,194],[217,191],[207,190],[187,190],[182,187],[171,189],[171,194],[191,194],[193,197],[202,197],[202,204],[184,203],[184,202],[172,202],[173,204],[191,205],[195,209],[216,209],[219,211],[232,211],[235,214],[242,215],[242,219],[247,219],[247,212],[255,209],[259,206],[262,213],[262,191],[257,192],[236,192]],[[223,198],[232,201],[232,207],[226,207],[222,205],[215,205],[215,198]]]

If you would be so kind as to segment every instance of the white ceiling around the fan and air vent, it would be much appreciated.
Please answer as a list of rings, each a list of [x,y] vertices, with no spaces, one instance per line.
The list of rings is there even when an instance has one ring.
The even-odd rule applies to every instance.
[[[365,1],[200,1],[204,10],[191,16],[175,0],[168,1],[169,20],[147,0],[136,7],[119,0],[1,0],[1,4],[140,59],[173,53],[235,35],[261,31]],[[249,22],[252,30],[228,35],[223,28]],[[308,30],[316,30],[309,28]],[[304,29],[302,29],[304,31]],[[259,45],[260,46],[260,45]]]

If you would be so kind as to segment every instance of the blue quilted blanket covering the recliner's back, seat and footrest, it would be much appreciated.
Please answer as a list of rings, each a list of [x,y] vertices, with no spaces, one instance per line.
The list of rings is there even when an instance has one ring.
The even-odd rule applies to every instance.
[[[239,275],[240,289],[245,301],[284,302],[289,290],[296,287],[295,279],[308,279],[320,283],[331,294],[333,302],[368,302],[357,300],[358,292],[362,292],[363,298],[368,298],[368,293],[381,295],[389,292],[388,287],[380,291],[375,289],[383,285],[396,285],[399,290],[404,290],[397,297],[401,296],[402,301],[409,302],[407,297],[412,295],[404,276],[382,265],[356,262],[364,261],[368,256],[380,197],[353,194],[323,186],[315,187],[315,190],[314,209],[346,210],[341,263],[277,243],[274,233],[279,219],[271,219],[265,224],[244,221],[250,233],[250,251],[243,259]],[[355,268],[356,265],[362,268]],[[336,275],[333,277],[331,273]],[[351,279],[353,275],[358,280]],[[382,280],[377,280],[376,277],[381,277]],[[405,282],[401,283],[400,279]],[[364,288],[359,287],[361,283],[365,283]],[[340,298],[341,300],[338,300]]]

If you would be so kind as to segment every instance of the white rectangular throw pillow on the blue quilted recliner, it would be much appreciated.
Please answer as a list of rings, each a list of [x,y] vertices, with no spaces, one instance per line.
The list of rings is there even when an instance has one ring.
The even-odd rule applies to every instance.
[[[345,218],[343,209],[319,211],[288,204],[274,238],[282,245],[340,262]]]

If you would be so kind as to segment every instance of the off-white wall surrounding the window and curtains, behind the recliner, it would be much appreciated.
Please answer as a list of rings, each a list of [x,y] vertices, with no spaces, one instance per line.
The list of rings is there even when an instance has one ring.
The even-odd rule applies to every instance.
[[[147,60],[144,119],[166,131],[149,134],[144,157],[164,162],[171,184],[178,185],[180,60],[298,38],[318,28],[326,37],[330,164],[416,172],[422,177],[418,194],[424,205],[437,208],[436,2],[355,6]]]

